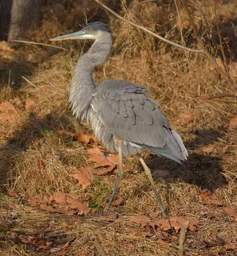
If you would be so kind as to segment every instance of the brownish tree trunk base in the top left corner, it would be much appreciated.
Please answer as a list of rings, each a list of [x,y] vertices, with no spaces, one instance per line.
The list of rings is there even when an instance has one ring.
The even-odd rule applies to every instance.
[[[3,0],[8,1],[8,0]],[[13,0],[8,41],[22,39],[40,21],[41,0]]]

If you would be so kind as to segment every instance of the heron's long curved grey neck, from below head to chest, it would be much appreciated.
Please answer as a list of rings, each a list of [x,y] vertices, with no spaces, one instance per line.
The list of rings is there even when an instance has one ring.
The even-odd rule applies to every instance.
[[[106,60],[111,47],[111,34],[103,32],[89,51],[80,57],[73,72],[68,101],[71,103],[73,115],[87,122],[90,121],[90,102],[95,90],[92,72]]]

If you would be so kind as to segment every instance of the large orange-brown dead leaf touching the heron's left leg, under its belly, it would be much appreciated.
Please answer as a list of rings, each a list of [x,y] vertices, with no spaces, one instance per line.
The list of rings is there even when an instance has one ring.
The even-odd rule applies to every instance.
[[[109,155],[105,157],[98,148],[90,148],[88,151],[89,161],[96,163],[96,167],[114,166],[119,164],[118,156]]]

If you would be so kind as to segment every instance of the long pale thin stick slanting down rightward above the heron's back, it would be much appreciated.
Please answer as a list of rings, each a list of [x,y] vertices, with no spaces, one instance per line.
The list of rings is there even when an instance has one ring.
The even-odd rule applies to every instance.
[[[191,48],[188,48],[188,47],[185,47],[183,45],[180,45],[180,44],[176,44],[174,42],[171,42],[170,40],[167,40],[165,39],[164,37],[160,36],[160,35],[157,35],[156,33],[154,33],[153,31],[150,31],[149,29],[145,28],[144,26],[140,26],[138,24],[135,24],[134,22],[130,21],[130,20],[127,20],[123,17],[121,17],[120,15],[118,15],[118,13],[114,12],[111,10],[111,8],[109,8],[108,6],[106,6],[105,4],[101,3],[100,1],[98,0],[95,0],[96,3],[100,4],[100,6],[102,6],[105,10],[107,10],[108,12],[112,13],[114,16],[116,16],[118,19],[121,19],[125,22],[127,22],[128,24],[131,24],[132,26],[136,27],[136,28],[139,28],[139,29],[142,29],[144,31],[146,31],[147,33],[159,38],[160,40],[166,42],[167,44],[171,44],[171,45],[174,45],[180,49],[183,49],[185,51],[190,51],[190,52],[203,52],[202,50],[195,50],[195,49],[191,49]]]

